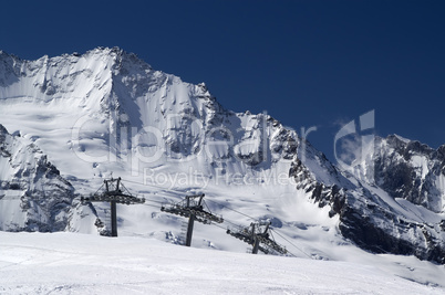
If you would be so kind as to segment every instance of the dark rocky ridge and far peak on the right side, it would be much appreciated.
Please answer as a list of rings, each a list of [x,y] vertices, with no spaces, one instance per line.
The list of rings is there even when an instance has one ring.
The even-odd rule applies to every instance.
[[[301,160],[290,175],[320,207],[339,214],[342,235],[375,253],[415,255],[445,263],[443,147],[434,150],[397,136],[375,138],[373,155],[343,181],[317,180]],[[369,162],[369,161],[372,162]],[[363,179],[373,166],[374,176]],[[330,169],[333,179],[342,178]],[[360,179],[360,180],[359,180]]]

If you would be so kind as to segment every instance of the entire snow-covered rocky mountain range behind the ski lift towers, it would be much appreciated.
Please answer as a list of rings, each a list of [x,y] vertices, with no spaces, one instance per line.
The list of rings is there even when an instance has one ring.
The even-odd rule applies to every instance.
[[[116,48],[37,61],[0,52],[0,124],[13,134],[3,128],[0,138],[0,196],[44,196],[29,218],[40,215],[39,226],[15,226],[20,202],[0,200],[2,230],[103,231],[108,207],[73,197],[93,193],[113,175],[155,202],[205,192],[225,220],[269,219],[299,246],[297,255],[339,260],[356,244],[444,263],[443,147],[377,138],[375,152],[340,170],[269,115],[227,110],[204,83],[185,83]],[[13,168],[20,165],[33,172]],[[30,185],[13,194],[12,180]],[[183,220],[156,207],[118,207],[120,233],[177,241]],[[213,226],[195,236],[198,247],[246,247]]]

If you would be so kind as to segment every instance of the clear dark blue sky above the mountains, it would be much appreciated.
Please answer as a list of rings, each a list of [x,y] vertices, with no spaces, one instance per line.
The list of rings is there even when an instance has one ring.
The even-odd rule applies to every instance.
[[[267,110],[332,158],[340,124],[445,144],[445,1],[3,1],[0,49],[120,46],[228,109]]]

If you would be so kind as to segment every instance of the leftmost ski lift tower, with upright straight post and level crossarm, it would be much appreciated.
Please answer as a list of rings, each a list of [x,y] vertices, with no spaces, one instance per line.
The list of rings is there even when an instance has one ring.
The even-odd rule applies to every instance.
[[[102,190],[102,193],[97,193]],[[117,212],[116,204],[136,204],[144,203],[144,198],[136,198],[122,185],[121,178],[111,178],[104,180],[102,187],[96,193],[91,197],[81,198],[82,203],[89,202],[110,202],[111,204],[111,221],[112,221],[112,236],[117,236]]]

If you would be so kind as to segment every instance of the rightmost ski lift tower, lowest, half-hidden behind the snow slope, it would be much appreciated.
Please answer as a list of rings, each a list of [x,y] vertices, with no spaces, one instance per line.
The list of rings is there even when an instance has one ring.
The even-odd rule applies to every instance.
[[[270,221],[260,221],[250,223],[249,228],[241,228],[237,231],[227,230],[227,234],[241,240],[249,245],[252,245],[252,254],[258,254],[258,250],[265,254],[271,251],[286,255],[286,247],[279,245],[272,240],[270,231]]]

